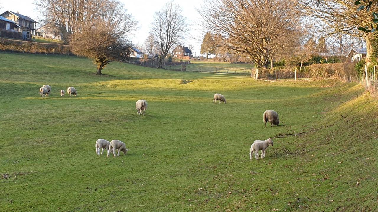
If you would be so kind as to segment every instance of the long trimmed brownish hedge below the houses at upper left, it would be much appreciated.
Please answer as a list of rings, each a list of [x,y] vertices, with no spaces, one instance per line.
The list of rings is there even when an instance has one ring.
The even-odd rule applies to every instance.
[[[0,49],[3,51],[28,52],[34,54],[70,54],[70,46],[53,43],[36,43],[31,41],[0,38]]]

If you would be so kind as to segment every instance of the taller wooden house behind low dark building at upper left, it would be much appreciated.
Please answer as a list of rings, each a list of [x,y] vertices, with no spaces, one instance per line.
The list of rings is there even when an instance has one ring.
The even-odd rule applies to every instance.
[[[12,22],[15,22],[20,27],[17,28],[18,32],[22,32],[23,40],[31,40],[32,35],[34,35],[36,31],[36,22],[35,20],[21,15],[16,12],[6,11],[0,14],[2,17],[8,18]]]

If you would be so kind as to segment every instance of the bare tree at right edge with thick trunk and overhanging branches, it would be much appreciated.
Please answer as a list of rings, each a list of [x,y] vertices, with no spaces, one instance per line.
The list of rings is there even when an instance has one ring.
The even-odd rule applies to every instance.
[[[313,1],[302,0],[305,15],[316,18],[319,31],[327,34],[343,34],[355,37],[362,36],[366,41],[366,64],[370,65],[372,55],[372,39],[375,33],[363,33],[358,27],[367,26],[373,20],[372,12],[359,10],[355,0],[327,0],[317,6]],[[370,11],[377,11],[378,4],[372,4]]]

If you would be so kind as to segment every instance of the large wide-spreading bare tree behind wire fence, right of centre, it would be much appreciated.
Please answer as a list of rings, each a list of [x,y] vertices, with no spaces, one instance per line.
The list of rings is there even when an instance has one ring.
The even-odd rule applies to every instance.
[[[199,12],[203,26],[223,38],[218,45],[267,67],[295,30],[294,7],[291,0],[206,0]]]

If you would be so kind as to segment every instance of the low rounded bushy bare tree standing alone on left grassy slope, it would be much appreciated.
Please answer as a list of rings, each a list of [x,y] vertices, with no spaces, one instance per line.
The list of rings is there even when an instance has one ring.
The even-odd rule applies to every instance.
[[[115,60],[130,54],[128,34],[136,30],[137,22],[127,14],[123,4],[112,1],[98,18],[82,26],[81,32],[72,35],[70,46],[74,54],[91,58],[97,64],[96,74]]]

